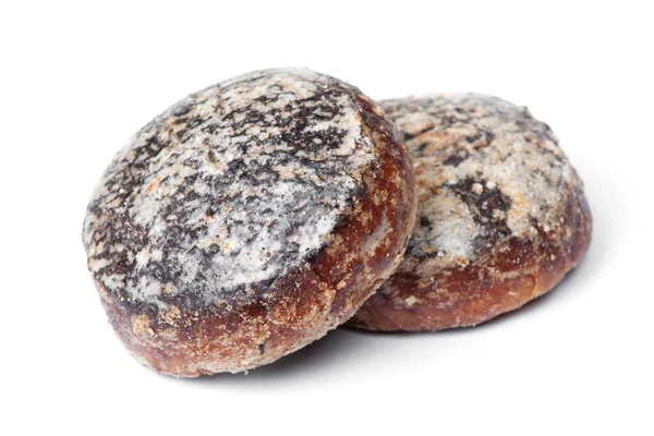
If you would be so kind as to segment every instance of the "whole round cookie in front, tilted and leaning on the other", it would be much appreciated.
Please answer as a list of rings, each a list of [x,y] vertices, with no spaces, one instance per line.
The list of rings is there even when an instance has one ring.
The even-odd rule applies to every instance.
[[[401,261],[414,178],[358,88],[303,69],[189,96],[114,157],[84,221],[109,320],[174,376],[253,368],[347,320]]]

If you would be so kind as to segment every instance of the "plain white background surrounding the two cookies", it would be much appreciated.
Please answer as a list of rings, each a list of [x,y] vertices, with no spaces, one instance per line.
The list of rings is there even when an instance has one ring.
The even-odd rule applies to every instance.
[[[654,434],[652,2],[1,4],[0,434]],[[142,367],[86,271],[94,183],[186,94],[287,65],[529,106],[586,183],[584,263],[474,329],[339,329],[247,376]]]

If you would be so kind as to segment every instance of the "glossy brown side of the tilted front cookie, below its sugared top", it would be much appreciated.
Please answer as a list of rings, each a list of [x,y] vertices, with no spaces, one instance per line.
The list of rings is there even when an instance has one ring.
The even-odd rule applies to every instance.
[[[372,159],[316,253],[265,284],[219,289],[209,303],[182,291],[169,300],[138,300],[140,293],[110,290],[92,267],[98,258],[89,255],[109,320],[142,363],[184,377],[270,363],[347,320],[399,264],[415,216],[414,178],[401,137],[356,88],[330,77],[323,84],[347,96],[362,137],[372,143]],[[87,227],[97,229],[98,219],[101,214]],[[97,252],[96,233],[85,233],[89,253]]]

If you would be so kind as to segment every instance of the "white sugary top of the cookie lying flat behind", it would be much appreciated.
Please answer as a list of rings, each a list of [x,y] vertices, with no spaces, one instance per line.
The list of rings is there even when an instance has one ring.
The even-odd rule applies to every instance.
[[[569,186],[581,181],[549,128],[525,108],[479,94],[380,105],[404,134],[417,180],[404,267],[424,256],[467,265],[510,238],[534,238],[534,226],[561,225]]]

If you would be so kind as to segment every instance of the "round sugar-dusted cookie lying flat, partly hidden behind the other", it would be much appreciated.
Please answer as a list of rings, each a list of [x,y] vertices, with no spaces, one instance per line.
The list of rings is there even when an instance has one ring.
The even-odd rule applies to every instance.
[[[476,94],[380,106],[407,141],[419,210],[402,263],[350,326],[474,326],[579,264],[591,239],[583,184],[526,108]]]

